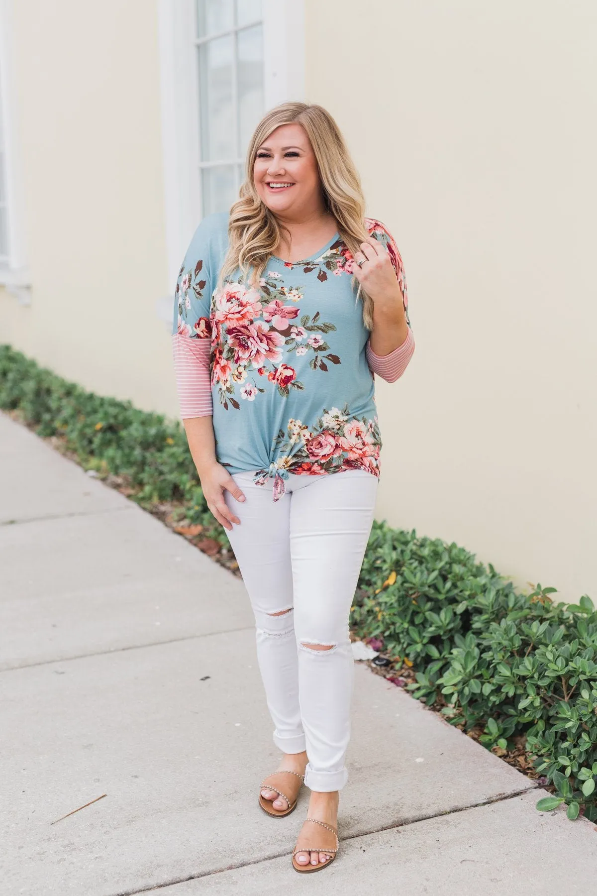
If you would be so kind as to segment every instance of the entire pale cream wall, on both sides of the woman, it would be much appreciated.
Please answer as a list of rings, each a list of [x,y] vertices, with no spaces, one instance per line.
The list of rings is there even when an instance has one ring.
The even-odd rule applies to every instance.
[[[380,383],[380,517],[597,595],[592,0],[305,0],[327,106],[405,260],[417,349]],[[32,305],[0,340],[175,415],[158,20],[13,4]]]

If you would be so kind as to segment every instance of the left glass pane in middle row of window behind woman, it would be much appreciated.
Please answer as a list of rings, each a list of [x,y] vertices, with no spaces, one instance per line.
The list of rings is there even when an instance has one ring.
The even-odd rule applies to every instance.
[[[235,159],[233,37],[199,47],[201,160]]]

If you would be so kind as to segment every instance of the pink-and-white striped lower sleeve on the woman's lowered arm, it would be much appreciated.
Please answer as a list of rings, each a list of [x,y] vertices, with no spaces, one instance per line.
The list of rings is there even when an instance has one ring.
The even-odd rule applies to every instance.
[[[181,418],[210,417],[213,413],[209,373],[209,339],[172,336],[176,391]]]

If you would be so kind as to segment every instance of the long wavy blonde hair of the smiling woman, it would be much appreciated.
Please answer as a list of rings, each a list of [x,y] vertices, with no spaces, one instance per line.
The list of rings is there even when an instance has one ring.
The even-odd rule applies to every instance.
[[[230,210],[230,247],[220,271],[220,285],[239,268],[252,285],[259,283],[269,256],[280,243],[283,226],[261,201],[253,180],[253,165],[261,144],[280,125],[301,125],[309,137],[319,169],[326,209],[337,221],[338,234],[354,255],[368,232],[364,222],[365,202],[361,180],[354,168],[336,122],[329,112],[311,103],[282,103],[263,116],[255,128],[247,151],[245,180],[240,199]],[[362,317],[369,330],[373,325],[373,303],[355,277],[357,298],[363,302]]]

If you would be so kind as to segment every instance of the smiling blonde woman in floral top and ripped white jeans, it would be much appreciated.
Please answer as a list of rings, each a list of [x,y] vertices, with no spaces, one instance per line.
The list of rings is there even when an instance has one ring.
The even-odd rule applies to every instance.
[[[257,126],[230,215],[202,220],[175,296],[181,416],[210,511],[256,622],[277,771],[260,806],[308,818],[297,871],[336,857],[354,661],[348,616],[380,476],[373,374],[414,351],[393,238],[320,106]]]

